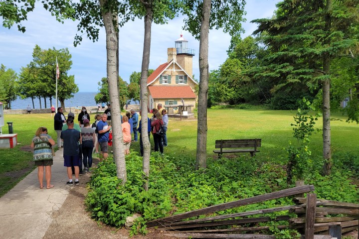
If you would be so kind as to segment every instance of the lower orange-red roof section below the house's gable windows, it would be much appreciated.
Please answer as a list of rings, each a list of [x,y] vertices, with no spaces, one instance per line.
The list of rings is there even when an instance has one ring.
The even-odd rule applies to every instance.
[[[196,98],[190,86],[149,86],[153,99]]]

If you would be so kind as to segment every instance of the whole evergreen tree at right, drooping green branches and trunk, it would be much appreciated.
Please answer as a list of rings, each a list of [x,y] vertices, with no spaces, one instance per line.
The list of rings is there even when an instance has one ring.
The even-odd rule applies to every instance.
[[[284,0],[277,4],[276,17],[256,19],[254,33],[266,32],[264,42],[272,54],[258,77],[276,79],[281,88],[305,82],[313,89],[321,85],[323,96],[323,173],[332,167],[330,132],[331,61],[358,44],[351,31],[359,23],[359,0]],[[278,89],[279,89],[278,88]]]

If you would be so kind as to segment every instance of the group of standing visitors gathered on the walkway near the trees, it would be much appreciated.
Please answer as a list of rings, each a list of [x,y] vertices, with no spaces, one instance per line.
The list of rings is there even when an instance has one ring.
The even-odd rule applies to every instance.
[[[161,112],[161,113],[160,113]],[[140,111],[141,114],[141,111]],[[121,116],[123,141],[125,154],[130,153],[131,142],[138,141],[140,133],[140,152],[143,156],[143,143],[141,138],[141,120],[135,110]],[[111,138],[111,106],[108,105],[104,114],[97,114],[95,121],[90,124],[90,115],[86,107],[82,107],[78,115],[78,123],[75,123],[75,115],[68,113],[67,119],[63,114],[63,108],[58,107],[54,115],[54,129],[57,134],[57,147],[63,150],[64,166],[67,168],[68,185],[79,185],[79,175],[91,172],[92,153],[100,153],[100,160],[108,157],[108,144]],[[137,126],[139,127],[137,128]],[[153,134],[155,151],[163,153],[163,147],[167,146],[167,111],[162,109],[162,104],[158,104],[157,109],[153,109],[153,117],[148,118],[148,136]],[[132,133],[134,138],[132,139]],[[38,167],[38,180],[40,188],[44,188],[43,171],[45,169],[46,188],[54,187],[51,184],[51,165],[53,164],[52,147],[56,144],[55,140],[47,134],[46,127],[39,127],[32,139],[31,147],[34,148],[33,160]],[[100,148],[100,152],[99,152]],[[82,164],[84,167],[82,167]],[[73,174],[75,181],[73,182]]]

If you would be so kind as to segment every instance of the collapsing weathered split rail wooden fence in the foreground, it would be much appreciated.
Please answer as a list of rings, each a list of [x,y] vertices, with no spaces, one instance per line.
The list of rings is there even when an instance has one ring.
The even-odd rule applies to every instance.
[[[270,221],[288,221],[287,226],[277,226],[277,228],[280,230],[297,229],[305,239],[341,239],[343,233],[358,228],[359,204],[317,200],[316,194],[310,193],[313,191],[313,185],[294,187],[156,219],[148,222],[147,227],[166,231],[165,235],[168,237],[208,239],[275,239],[275,236],[268,234],[270,227],[256,226],[257,223]],[[307,193],[307,198],[294,198],[295,205],[191,219],[231,208],[304,193]],[[280,211],[288,211],[289,214],[271,217],[262,215]],[[293,213],[297,217],[291,216]],[[254,215],[256,216],[253,217]],[[218,229],[223,227],[226,228]]]

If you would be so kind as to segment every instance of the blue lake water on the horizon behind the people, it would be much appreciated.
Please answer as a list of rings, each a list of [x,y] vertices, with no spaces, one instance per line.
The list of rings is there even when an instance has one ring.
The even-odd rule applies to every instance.
[[[78,92],[74,94],[73,98],[65,100],[65,107],[96,106],[97,105],[95,102],[96,94],[97,92]],[[32,109],[31,98],[27,98],[24,100],[17,98],[15,101],[11,102],[11,110],[26,109],[27,105],[30,105]],[[35,105],[35,109],[40,109],[40,103],[38,98],[34,99],[34,105]],[[54,99],[52,99],[52,105],[55,106]],[[51,108],[49,98],[46,98],[46,106],[47,108]],[[60,106],[60,102],[58,103],[58,106]],[[41,108],[42,109],[45,108],[45,103],[43,98],[41,98]]]

